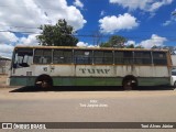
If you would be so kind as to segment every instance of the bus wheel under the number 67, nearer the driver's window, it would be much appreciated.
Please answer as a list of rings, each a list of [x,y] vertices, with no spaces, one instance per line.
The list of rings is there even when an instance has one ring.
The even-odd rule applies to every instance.
[[[41,75],[35,80],[35,86],[38,88],[47,89],[53,87],[53,79],[48,75]]]

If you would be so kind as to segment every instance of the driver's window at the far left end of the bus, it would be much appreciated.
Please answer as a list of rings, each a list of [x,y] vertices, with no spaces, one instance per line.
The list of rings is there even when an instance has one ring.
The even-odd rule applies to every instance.
[[[33,62],[33,50],[19,48],[14,52],[13,68],[29,67]]]

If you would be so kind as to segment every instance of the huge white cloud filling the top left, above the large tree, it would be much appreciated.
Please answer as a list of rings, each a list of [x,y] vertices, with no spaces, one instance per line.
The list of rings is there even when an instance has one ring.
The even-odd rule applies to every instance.
[[[13,31],[35,32],[41,24],[55,24],[58,19],[65,19],[79,30],[87,22],[76,7],[67,6],[66,0],[1,0],[0,4],[0,26],[6,30],[9,26]]]

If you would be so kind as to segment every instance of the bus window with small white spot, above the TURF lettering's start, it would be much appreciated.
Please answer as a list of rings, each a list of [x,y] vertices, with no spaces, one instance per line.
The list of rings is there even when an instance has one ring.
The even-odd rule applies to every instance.
[[[92,64],[92,51],[75,50],[74,62],[75,64]]]

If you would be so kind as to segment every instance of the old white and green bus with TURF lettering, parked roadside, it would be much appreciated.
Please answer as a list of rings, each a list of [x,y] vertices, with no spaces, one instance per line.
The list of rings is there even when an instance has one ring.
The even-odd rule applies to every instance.
[[[15,46],[10,86],[138,86],[170,84],[167,50]]]

